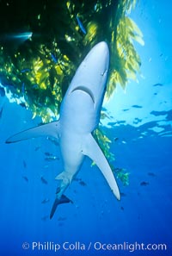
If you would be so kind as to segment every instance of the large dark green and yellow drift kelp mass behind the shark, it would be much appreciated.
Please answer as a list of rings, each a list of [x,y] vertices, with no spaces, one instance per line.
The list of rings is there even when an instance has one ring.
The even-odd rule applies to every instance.
[[[143,44],[141,32],[128,17],[135,3],[1,1],[0,82],[8,97],[31,109],[33,118],[40,116],[42,122],[57,118],[77,66],[99,41],[107,41],[111,54],[106,98],[117,84],[126,88],[140,66],[132,40]],[[109,141],[100,134],[97,140],[107,154]]]

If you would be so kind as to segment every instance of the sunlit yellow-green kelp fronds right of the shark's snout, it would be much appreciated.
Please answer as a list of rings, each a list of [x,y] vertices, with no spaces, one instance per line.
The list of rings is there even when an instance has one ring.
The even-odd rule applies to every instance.
[[[126,89],[129,79],[136,80],[141,60],[133,41],[144,45],[143,34],[137,24],[127,15],[136,1],[120,1],[116,12],[117,27],[112,32],[110,75],[107,84],[107,100],[117,84]]]

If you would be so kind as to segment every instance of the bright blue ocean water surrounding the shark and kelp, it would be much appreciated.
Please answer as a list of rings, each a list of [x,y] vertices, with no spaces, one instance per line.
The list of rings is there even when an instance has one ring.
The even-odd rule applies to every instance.
[[[78,181],[66,191],[73,204],[58,206],[50,221],[57,186],[54,178],[62,171],[57,147],[42,138],[4,144],[9,135],[37,125],[40,119],[32,120],[30,111],[0,98],[0,255],[171,255],[172,32],[168,3],[169,8],[160,1],[146,0],[133,11],[132,18],[144,34],[144,47],[136,45],[141,75],[138,83],[128,84],[126,92],[119,87],[105,104],[112,116],[104,130],[113,140],[114,165],[130,172],[128,186],[119,181],[120,202],[98,168],[90,167],[86,159]],[[56,159],[48,159],[48,154]],[[117,244],[122,245],[119,250]]]

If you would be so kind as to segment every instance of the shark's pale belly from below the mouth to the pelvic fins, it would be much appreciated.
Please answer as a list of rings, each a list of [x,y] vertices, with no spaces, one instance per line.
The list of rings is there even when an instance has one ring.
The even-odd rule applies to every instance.
[[[75,90],[64,97],[60,109],[60,150],[64,170],[77,173],[83,163],[83,141],[98,125],[100,110],[87,91]]]

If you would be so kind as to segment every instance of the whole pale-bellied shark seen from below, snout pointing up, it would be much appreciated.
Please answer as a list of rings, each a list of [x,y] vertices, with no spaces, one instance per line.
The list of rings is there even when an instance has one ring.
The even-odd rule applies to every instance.
[[[120,200],[120,190],[112,169],[93,136],[100,122],[101,106],[107,88],[109,58],[107,42],[97,43],[78,66],[62,100],[58,121],[29,128],[6,140],[6,143],[13,143],[39,136],[49,136],[58,140],[63,172],[55,178],[60,182],[50,219],[58,204],[72,203],[64,195],[64,191],[76,178],[85,157],[95,162],[114,196]]]

